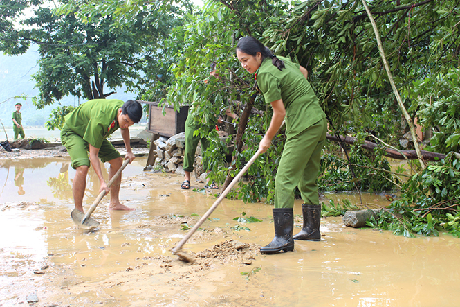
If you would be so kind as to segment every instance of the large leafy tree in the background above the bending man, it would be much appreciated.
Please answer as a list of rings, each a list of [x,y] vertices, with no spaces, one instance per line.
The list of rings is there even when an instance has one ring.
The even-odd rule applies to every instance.
[[[34,15],[21,20],[20,29],[13,26],[14,16],[10,18],[3,27],[1,49],[17,54],[39,44],[39,71],[33,76],[39,89],[38,108],[68,95],[89,100],[106,98],[117,87],[141,93],[154,86],[152,76],[165,70],[156,65],[163,41],[181,24],[183,14],[181,8],[159,12],[160,1],[130,19],[115,17],[107,9],[82,14],[80,6],[88,1],[55,2],[55,8],[39,1],[21,3],[11,5],[17,12],[14,16],[25,8],[33,8]]]

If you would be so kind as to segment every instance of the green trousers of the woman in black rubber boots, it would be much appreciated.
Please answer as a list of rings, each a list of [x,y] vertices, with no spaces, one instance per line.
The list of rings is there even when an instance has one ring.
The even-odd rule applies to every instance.
[[[326,132],[327,121],[321,119],[300,134],[286,139],[275,179],[275,208],[294,207],[295,186],[305,204],[320,204],[315,182]]]

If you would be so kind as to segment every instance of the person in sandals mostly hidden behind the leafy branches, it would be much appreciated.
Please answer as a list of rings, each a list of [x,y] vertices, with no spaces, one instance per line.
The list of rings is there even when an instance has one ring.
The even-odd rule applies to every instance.
[[[212,63],[211,65],[211,72],[210,75],[216,78],[219,76],[216,73],[216,64]],[[205,80],[207,82],[207,80]],[[194,135],[195,130],[199,130],[201,127],[201,123],[195,122],[193,116],[190,116],[191,112],[189,109],[189,116],[187,116],[187,120],[185,121],[185,149],[184,149],[184,162],[183,162],[183,170],[185,173],[184,181],[181,184],[181,188],[187,190],[190,188],[190,173],[194,170],[194,161],[195,161],[195,152],[198,143],[201,142],[201,152],[205,152],[206,148],[209,146],[209,140],[205,137],[201,137],[201,135]],[[226,109],[226,115],[230,116],[235,121],[237,120],[237,114],[234,114],[230,109]],[[222,123],[222,118],[219,116],[217,118],[217,123]],[[215,125],[210,125],[209,131],[213,130]],[[203,161],[203,170],[207,170],[206,162]],[[209,173],[209,172],[208,172]],[[219,188],[214,182],[209,184],[209,178],[206,179],[205,188]]]

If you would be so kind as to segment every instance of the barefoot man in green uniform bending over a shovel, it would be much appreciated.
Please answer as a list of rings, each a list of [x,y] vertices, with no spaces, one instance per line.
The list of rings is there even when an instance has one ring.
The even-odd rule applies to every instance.
[[[132,210],[121,204],[118,199],[121,176],[113,182],[110,188],[102,177],[99,159],[109,162],[109,179],[122,166],[122,157],[113,145],[107,141],[114,131],[121,128],[121,135],[125,143],[126,156],[129,163],[134,160],[129,141],[129,126],[138,123],[142,117],[142,107],[134,100],[123,103],[122,100],[94,99],[74,109],[65,117],[66,122],[61,130],[62,145],[67,148],[71,156],[71,166],[76,170],[73,179],[73,199],[75,208],[83,212],[83,196],[86,188],[86,175],[93,166],[100,180],[99,193],[110,193],[109,210]],[[88,155],[89,152],[89,155]]]

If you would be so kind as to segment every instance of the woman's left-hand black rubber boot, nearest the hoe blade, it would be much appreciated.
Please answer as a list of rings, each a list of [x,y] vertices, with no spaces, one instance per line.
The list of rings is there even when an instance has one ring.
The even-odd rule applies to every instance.
[[[294,250],[293,229],[294,214],[292,208],[273,208],[273,224],[275,238],[272,242],[260,248],[261,254],[275,254]]]

